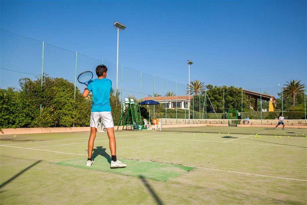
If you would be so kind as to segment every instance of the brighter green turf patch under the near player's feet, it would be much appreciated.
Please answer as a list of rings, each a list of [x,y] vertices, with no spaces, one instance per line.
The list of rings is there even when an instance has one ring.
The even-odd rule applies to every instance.
[[[125,160],[119,159],[122,163],[127,164],[126,168],[111,169],[111,158],[96,157],[94,164],[91,167],[86,167],[84,158],[75,160],[66,160],[62,162],[52,163],[61,166],[69,166],[80,169],[89,169],[95,171],[109,172],[113,174],[120,174],[126,176],[134,176],[144,179],[152,179],[157,181],[168,181],[178,177],[188,171],[195,169],[194,167],[187,167],[176,164],[166,164],[159,162],[146,162],[139,160]]]

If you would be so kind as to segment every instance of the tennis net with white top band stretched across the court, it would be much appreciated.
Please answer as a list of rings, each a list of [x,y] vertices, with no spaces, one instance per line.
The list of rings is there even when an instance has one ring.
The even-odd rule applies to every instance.
[[[164,132],[203,132],[226,134],[262,134],[276,136],[306,136],[307,120],[237,120],[237,119],[161,119]]]

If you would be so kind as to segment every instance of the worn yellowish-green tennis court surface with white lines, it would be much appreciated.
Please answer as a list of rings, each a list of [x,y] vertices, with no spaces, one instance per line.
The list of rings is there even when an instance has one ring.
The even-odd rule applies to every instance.
[[[0,136],[1,204],[307,203],[306,137],[117,131],[110,169],[104,132],[85,166],[88,136]]]

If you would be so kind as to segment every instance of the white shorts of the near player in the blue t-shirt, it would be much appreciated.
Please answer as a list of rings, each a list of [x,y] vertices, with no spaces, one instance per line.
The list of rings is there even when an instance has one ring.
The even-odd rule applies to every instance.
[[[114,128],[111,112],[91,112],[90,127],[98,128],[99,118],[104,128]]]

